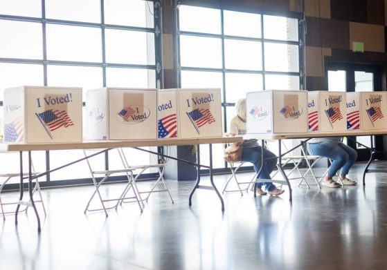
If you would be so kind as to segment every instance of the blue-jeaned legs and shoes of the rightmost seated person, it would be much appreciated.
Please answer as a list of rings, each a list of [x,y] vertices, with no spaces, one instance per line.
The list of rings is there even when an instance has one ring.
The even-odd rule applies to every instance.
[[[327,175],[324,177],[323,186],[338,188],[343,186],[353,186],[357,182],[348,179],[347,175],[350,168],[357,159],[357,152],[341,142],[340,137],[315,138],[310,139],[307,144],[307,150],[312,155],[327,157],[332,161],[328,168]],[[339,180],[341,184],[333,180],[336,172],[340,170]]]

